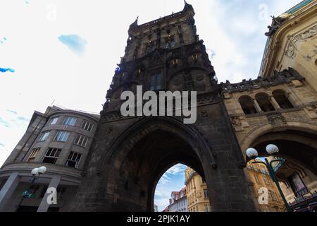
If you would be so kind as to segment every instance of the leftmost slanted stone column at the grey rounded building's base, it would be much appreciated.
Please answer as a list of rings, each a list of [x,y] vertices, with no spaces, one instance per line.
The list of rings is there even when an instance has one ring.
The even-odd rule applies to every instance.
[[[6,180],[6,184],[4,184],[0,191],[0,212],[5,210],[4,208],[6,207],[6,203],[11,198],[11,195],[15,191],[19,182],[20,177],[18,176],[18,172],[13,172],[10,175],[10,177]]]

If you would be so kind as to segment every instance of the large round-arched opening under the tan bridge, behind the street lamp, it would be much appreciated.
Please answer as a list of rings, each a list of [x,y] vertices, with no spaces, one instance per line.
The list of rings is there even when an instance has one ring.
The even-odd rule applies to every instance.
[[[266,145],[277,145],[280,152],[274,157],[268,157]],[[260,157],[268,157],[269,160],[280,160],[273,163],[273,169],[278,177],[282,194],[287,203],[294,210],[316,210],[317,201],[317,135],[308,131],[287,129],[283,131],[271,131],[259,136],[251,144],[258,150]],[[259,167],[251,161],[249,167]],[[256,182],[260,183],[260,182]],[[275,193],[279,196],[275,186]],[[269,197],[270,199],[270,197]],[[271,197],[271,199],[274,199]],[[315,204],[313,204],[315,203]]]

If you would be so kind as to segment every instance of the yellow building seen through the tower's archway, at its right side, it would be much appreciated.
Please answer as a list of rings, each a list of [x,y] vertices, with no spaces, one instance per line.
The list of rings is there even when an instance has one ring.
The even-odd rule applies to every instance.
[[[202,177],[193,169],[185,169],[187,207],[189,212],[210,212],[209,193]]]

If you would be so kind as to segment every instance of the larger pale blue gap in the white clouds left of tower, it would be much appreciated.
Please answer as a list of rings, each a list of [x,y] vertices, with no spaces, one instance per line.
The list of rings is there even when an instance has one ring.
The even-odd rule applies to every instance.
[[[79,57],[85,53],[87,41],[79,35],[61,35],[58,40]]]

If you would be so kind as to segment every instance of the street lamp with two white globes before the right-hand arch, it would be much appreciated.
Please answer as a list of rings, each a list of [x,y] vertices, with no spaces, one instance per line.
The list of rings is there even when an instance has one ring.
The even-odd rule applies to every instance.
[[[266,146],[266,152],[268,153],[268,155],[276,155],[278,154],[280,150],[278,149],[278,146],[273,145],[273,144],[269,144]],[[248,148],[246,151],[247,157],[249,157],[250,159],[256,159],[256,157],[259,157],[259,153],[256,149],[254,148]],[[257,164],[257,163],[261,163],[266,165],[266,168],[268,169],[268,173],[270,174],[273,182],[276,184],[276,186],[278,187],[278,191],[280,192],[280,196],[282,197],[282,201],[285,204],[286,210],[288,212],[291,212],[292,210],[290,209],[290,206],[288,205],[286,198],[284,196],[284,194],[282,193],[282,189],[280,189],[280,184],[278,183],[278,177],[276,177],[275,171],[273,169],[272,163],[273,162],[283,162],[282,160],[272,160],[271,162],[268,161],[267,158],[265,158],[266,162],[252,162],[253,164]]]

